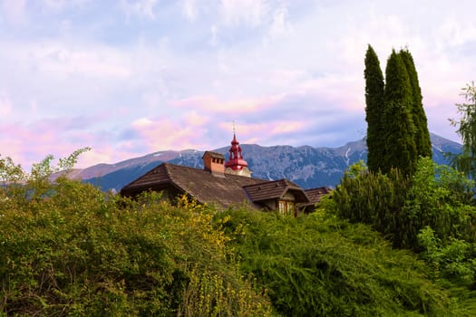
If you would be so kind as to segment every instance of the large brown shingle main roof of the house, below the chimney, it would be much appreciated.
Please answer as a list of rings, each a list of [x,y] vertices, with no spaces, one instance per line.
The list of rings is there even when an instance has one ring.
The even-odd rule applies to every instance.
[[[134,196],[144,190],[162,190],[172,186],[195,197],[199,203],[217,203],[229,207],[248,201],[243,187],[263,182],[266,180],[231,174],[219,178],[203,169],[162,163],[122,187],[121,195]]]

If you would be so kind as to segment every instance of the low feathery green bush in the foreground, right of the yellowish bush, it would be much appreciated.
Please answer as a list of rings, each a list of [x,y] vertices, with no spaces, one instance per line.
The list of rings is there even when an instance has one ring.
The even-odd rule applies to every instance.
[[[425,278],[428,267],[376,232],[316,212],[216,216],[240,259],[284,316],[471,315]]]

